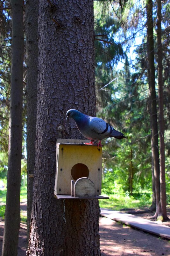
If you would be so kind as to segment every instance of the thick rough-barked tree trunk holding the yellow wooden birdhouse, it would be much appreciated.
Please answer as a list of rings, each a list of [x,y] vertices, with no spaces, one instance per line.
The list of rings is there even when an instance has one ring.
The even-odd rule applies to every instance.
[[[56,139],[80,139],[66,111],[95,115],[93,0],[41,0],[37,133],[27,255],[100,255],[98,200],[54,198]]]

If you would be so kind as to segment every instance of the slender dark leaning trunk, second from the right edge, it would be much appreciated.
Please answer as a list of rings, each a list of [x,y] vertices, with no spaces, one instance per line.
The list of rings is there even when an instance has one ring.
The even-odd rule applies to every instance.
[[[160,201],[160,181],[159,181],[159,146],[158,146],[158,124],[157,124],[157,106],[155,90],[155,65],[154,65],[154,41],[153,41],[153,20],[152,20],[152,0],[147,0],[147,52],[149,60],[148,82],[151,99],[151,129],[152,129],[152,153],[154,163],[155,192],[156,192],[156,213]]]

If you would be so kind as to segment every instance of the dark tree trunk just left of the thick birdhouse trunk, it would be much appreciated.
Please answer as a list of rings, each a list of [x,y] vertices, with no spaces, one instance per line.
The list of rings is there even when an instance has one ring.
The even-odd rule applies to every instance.
[[[37,115],[38,78],[38,9],[39,0],[25,3],[25,34],[27,54],[26,100],[27,100],[27,244],[30,233],[33,176],[35,168],[35,138]]]

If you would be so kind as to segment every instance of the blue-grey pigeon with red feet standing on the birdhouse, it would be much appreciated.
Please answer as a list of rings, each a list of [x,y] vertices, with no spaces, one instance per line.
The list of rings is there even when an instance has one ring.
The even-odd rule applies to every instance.
[[[91,140],[89,143],[85,144],[92,145],[95,144],[95,140],[99,140],[97,147],[102,147],[101,140],[105,138],[126,138],[122,132],[118,132],[101,118],[87,116],[76,109],[69,109],[67,111],[67,118],[70,117],[74,119],[79,132],[81,132],[86,139]]]

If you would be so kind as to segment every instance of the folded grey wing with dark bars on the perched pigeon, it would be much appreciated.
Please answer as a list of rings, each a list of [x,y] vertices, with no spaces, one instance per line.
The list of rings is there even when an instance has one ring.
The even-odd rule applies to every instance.
[[[89,128],[101,137],[107,137],[113,130],[110,124],[98,117],[89,118]]]

